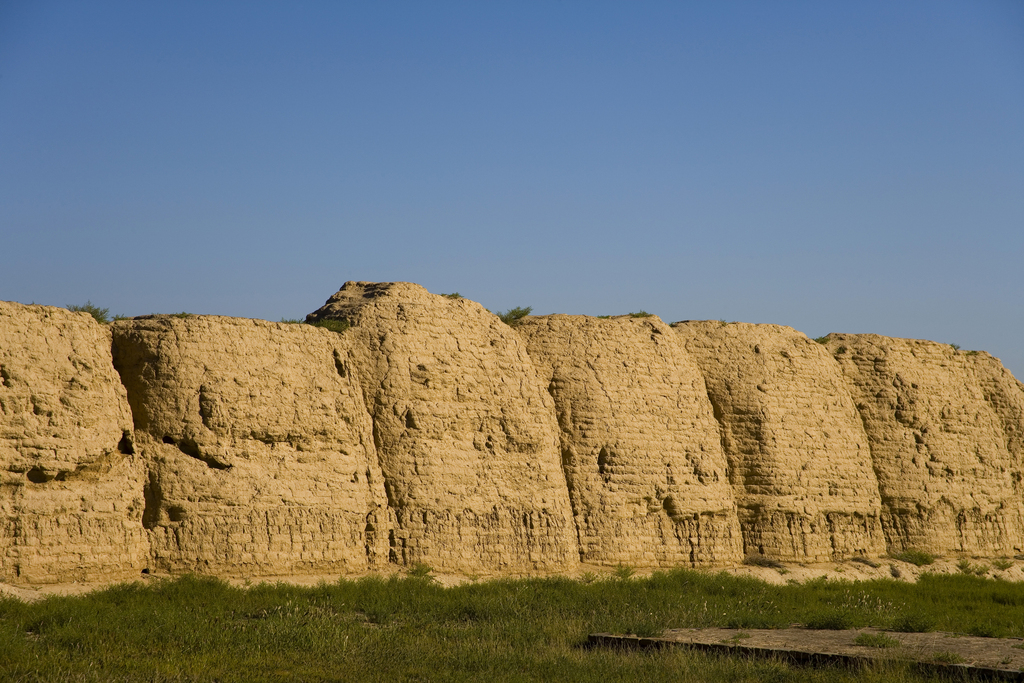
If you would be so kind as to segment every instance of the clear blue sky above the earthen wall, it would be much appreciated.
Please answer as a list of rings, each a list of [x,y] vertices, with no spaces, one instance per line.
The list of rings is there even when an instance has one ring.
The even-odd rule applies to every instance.
[[[1024,2],[0,1],[0,299],[347,280],[1024,379]]]

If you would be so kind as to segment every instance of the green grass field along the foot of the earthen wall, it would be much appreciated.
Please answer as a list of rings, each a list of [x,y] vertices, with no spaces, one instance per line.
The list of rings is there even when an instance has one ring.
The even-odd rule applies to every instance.
[[[898,665],[812,669],[681,650],[584,645],[594,632],[876,626],[1024,636],[1024,585],[925,574],[916,584],[771,586],[689,570],[649,578],[429,577],[232,588],[186,577],[79,597],[0,600],[4,681],[924,681]]]

